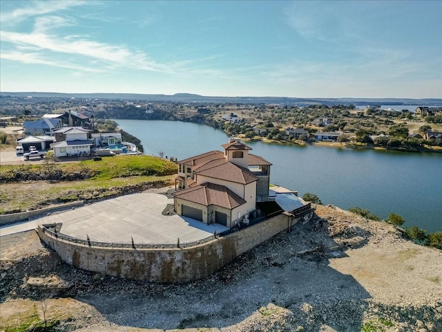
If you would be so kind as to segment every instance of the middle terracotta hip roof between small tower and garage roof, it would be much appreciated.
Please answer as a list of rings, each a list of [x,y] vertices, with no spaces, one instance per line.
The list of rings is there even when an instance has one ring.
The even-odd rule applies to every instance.
[[[229,162],[215,165],[211,168],[198,170],[195,172],[195,174],[208,176],[209,178],[219,178],[220,180],[224,181],[241,183],[243,185],[247,185],[248,183],[258,180],[258,178],[254,176],[249,169]]]

